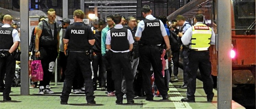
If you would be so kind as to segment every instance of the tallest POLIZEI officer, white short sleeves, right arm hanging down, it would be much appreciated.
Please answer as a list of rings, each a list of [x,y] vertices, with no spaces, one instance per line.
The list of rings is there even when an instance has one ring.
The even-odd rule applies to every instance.
[[[166,44],[166,50],[170,51],[170,42],[164,27],[164,24],[151,15],[149,5],[144,5],[141,9],[143,16],[146,18],[138,23],[135,39],[140,40],[139,58],[140,69],[143,77],[143,88],[147,96],[146,100],[153,100],[153,93],[151,91],[151,65],[153,66],[156,86],[163,100],[167,99],[167,87],[164,83],[164,75],[162,74],[162,61],[160,45],[163,41]]]

